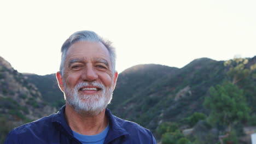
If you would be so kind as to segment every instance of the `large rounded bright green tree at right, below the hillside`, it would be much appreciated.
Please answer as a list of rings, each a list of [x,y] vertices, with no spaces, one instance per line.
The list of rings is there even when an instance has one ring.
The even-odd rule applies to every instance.
[[[228,126],[225,135],[219,136],[220,143],[229,136],[232,124],[245,121],[249,117],[249,107],[242,90],[229,81],[211,87],[210,97],[206,97],[203,105],[211,110],[211,122]]]

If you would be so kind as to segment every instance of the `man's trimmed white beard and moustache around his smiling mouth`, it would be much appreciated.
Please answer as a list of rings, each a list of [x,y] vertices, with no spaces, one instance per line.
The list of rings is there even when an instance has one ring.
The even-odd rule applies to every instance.
[[[96,86],[101,88],[101,94],[85,95],[79,93],[79,89],[85,86]],[[65,97],[68,105],[71,105],[76,112],[85,116],[98,115],[106,109],[112,99],[112,88],[106,88],[102,83],[80,82],[73,89],[64,83]]]

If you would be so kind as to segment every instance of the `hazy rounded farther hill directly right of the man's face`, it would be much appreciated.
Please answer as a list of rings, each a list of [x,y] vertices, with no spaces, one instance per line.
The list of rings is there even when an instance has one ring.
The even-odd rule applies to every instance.
[[[175,74],[177,70],[178,68],[159,64],[141,64],[124,70],[118,76],[113,99],[108,106],[109,109],[118,110],[117,106],[136,97],[138,93],[144,91],[145,87],[150,87],[155,80],[161,79],[167,74]]]

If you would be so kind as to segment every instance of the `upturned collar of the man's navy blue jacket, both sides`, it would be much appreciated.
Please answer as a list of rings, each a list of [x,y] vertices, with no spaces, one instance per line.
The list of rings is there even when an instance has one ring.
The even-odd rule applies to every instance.
[[[52,122],[63,134],[73,139],[72,130],[65,118],[65,108],[66,105],[61,107],[61,109],[53,116]],[[128,131],[121,126],[122,122],[120,119],[112,115],[110,110],[106,109],[105,115],[107,115],[109,122],[109,130],[105,142],[110,142],[123,135],[130,135]]]

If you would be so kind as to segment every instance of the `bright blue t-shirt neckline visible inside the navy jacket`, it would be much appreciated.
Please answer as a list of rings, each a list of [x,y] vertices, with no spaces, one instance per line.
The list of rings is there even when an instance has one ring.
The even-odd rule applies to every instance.
[[[82,135],[73,131],[73,136],[83,144],[103,144],[108,134],[109,126],[107,126],[100,134],[97,135]]]

